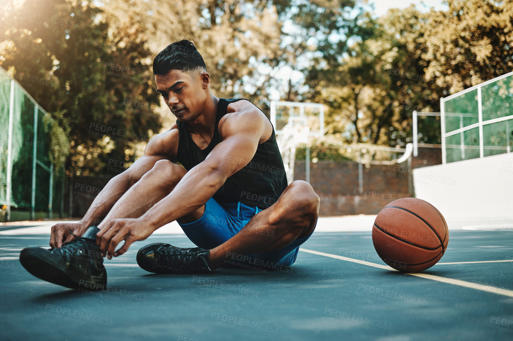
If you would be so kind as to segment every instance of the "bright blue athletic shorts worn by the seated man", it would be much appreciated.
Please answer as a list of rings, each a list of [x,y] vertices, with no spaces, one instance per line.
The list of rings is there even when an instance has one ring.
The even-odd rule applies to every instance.
[[[213,249],[241,231],[255,214],[262,210],[241,202],[220,204],[210,198],[205,203],[203,216],[191,223],[180,224],[187,237],[198,247]],[[270,231],[265,234],[270,235]],[[313,232],[312,232],[313,233]],[[242,267],[247,269],[282,270],[291,266],[298,256],[299,245],[310,236],[296,239],[280,250],[267,253],[228,255],[222,267]]]

